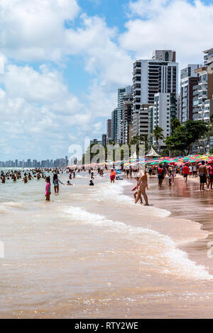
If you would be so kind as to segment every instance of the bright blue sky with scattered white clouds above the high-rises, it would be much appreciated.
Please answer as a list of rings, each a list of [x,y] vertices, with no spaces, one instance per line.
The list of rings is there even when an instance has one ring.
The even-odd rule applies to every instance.
[[[212,46],[212,0],[1,0],[0,161],[100,139],[136,59],[176,50],[182,69]]]

